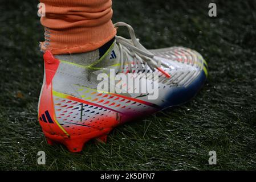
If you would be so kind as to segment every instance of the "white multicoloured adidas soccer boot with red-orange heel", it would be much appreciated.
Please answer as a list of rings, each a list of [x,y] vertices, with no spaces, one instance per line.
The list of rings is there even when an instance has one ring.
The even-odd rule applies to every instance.
[[[44,53],[44,81],[38,117],[47,142],[80,152],[96,138],[105,142],[117,125],[189,101],[208,75],[202,56],[188,48],[147,50],[116,36],[108,51],[90,65]],[[132,84],[130,81],[133,80]]]

